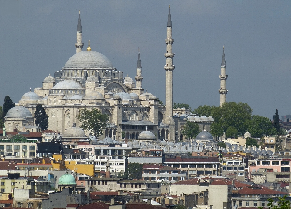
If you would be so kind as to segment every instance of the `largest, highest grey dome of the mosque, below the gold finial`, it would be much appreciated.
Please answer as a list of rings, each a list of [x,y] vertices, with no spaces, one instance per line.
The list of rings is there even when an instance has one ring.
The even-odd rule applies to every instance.
[[[81,51],[74,54],[62,69],[114,69],[113,64],[97,51]]]

